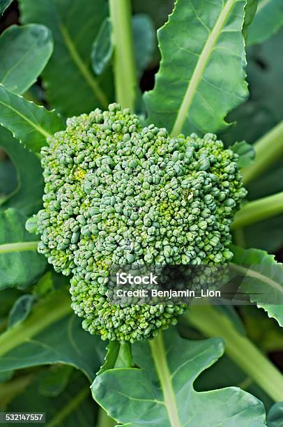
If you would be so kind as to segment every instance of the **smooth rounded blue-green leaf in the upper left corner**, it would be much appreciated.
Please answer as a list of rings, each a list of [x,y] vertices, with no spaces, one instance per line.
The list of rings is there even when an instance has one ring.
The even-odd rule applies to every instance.
[[[52,51],[52,34],[44,25],[8,27],[0,37],[0,83],[21,95],[36,82]]]

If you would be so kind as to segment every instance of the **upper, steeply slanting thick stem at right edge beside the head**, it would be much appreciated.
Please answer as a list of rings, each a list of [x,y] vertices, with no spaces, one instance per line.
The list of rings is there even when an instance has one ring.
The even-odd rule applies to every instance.
[[[243,181],[248,183],[268,168],[283,154],[283,121],[266,133],[254,144],[256,158],[254,163],[243,170]]]

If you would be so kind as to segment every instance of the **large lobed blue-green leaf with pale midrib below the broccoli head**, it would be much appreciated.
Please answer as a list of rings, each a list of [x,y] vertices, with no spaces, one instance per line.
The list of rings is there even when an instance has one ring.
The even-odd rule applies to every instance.
[[[91,386],[95,400],[116,421],[135,427],[266,425],[262,403],[245,391],[194,390],[194,380],[223,354],[219,338],[184,340],[169,329],[132,350],[140,368],[106,370]]]

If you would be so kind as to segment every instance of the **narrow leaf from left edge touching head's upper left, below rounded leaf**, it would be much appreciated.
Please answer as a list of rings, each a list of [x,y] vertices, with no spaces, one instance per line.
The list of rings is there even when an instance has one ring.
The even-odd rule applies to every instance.
[[[63,128],[63,121],[56,112],[7,91],[2,84],[0,124],[32,151],[40,151],[47,144],[47,137]]]

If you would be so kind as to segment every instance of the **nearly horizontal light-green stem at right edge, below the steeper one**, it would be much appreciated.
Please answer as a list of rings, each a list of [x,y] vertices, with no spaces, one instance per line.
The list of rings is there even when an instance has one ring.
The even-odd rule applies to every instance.
[[[232,229],[257,223],[283,212],[283,191],[248,202],[236,213]]]

